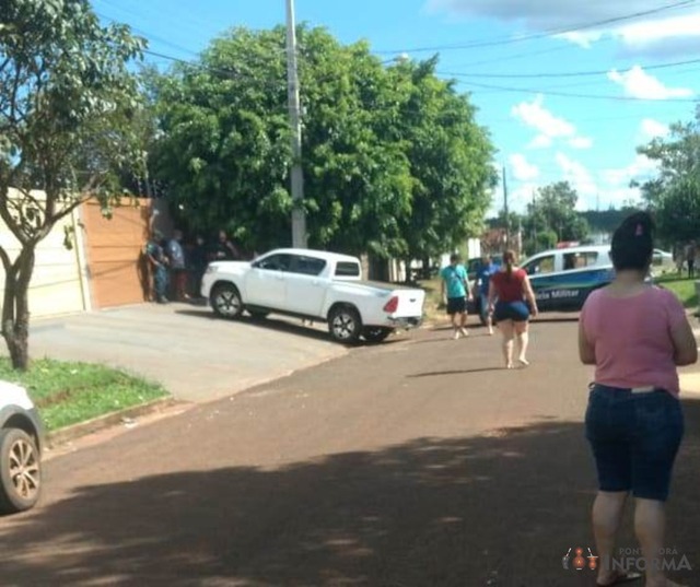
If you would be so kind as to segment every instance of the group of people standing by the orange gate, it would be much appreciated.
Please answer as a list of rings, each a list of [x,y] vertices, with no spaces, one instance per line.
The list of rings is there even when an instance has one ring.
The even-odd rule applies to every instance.
[[[180,230],[173,231],[171,238],[154,230],[145,256],[153,275],[153,298],[159,304],[166,304],[170,297],[178,302],[199,297],[201,279],[211,261],[243,259],[225,231],[219,231],[212,243],[201,235],[185,243]]]

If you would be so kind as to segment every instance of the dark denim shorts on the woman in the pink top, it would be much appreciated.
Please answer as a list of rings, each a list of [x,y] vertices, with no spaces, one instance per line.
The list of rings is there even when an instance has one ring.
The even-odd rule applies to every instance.
[[[592,385],[586,410],[600,491],[665,502],[684,434],[680,402],[663,389]]]

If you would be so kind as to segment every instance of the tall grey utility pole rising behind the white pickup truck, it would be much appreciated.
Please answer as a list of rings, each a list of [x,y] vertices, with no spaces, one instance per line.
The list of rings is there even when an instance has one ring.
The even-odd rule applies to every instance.
[[[296,22],[294,0],[287,0],[287,78],[289,117],[292,127],[292,246],[306,248],[306,214],[304,212],[304,174],[302,171],[302,120],[296,69]]]

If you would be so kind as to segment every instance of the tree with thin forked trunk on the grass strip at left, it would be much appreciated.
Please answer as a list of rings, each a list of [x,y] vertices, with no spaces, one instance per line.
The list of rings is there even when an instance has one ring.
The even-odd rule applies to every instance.
[[[21,247],[14,259],[0,247],[1,328],[24,369],[36,246],[84,200],[107,209],[139,150],[128,66],[143,42],[127,26],[102,27],[86,0],[2,0],[0,13],[0,218]]]

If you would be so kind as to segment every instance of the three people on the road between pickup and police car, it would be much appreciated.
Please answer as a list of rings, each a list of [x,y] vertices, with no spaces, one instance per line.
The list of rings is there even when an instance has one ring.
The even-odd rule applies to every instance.
[[[514,347],[517,348],[515,360],[520,366],[527,366],[528,325],[532,317],[537,316],[537,301],[527,279],[527,273],[516,265],[513,250],[503,254],[503,266],[495,267],[489,256],[483,257],[477,271],[474,289],[469,283],[462,258],[454,254],[450,265],[441,271],[442,296],[451,316],[453,337],[458,340],[469,334],[467,330],[467,305],[479,300],[481,314],[486,316],[489,334],[493,334],[493,325],[498,325],[503,337],[502,351],[505,368],[513,368],[515,363]]]

